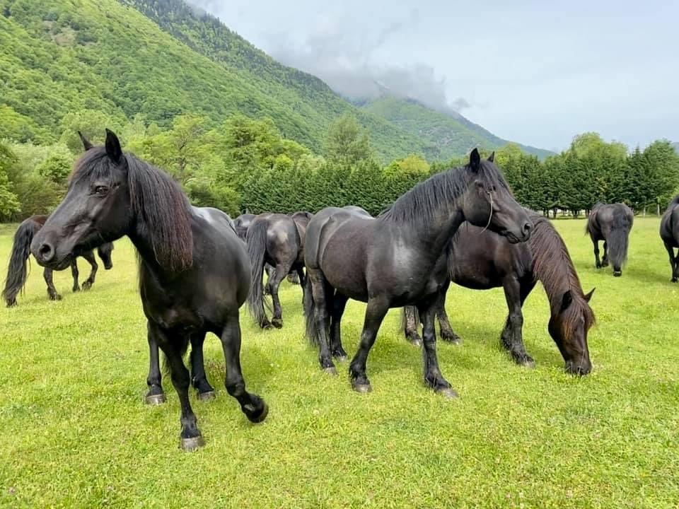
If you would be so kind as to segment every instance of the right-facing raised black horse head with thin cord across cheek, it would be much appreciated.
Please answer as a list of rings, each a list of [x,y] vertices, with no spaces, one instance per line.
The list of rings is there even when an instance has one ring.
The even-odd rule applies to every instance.
[[[495,153],[481,160],[475,148],[469,164],[470,185],[463,200],[465,220],[475,226],[487,227],[506,237],[509,242],[526,242],[533,223],[528,213],[519,205],[494,163]]]

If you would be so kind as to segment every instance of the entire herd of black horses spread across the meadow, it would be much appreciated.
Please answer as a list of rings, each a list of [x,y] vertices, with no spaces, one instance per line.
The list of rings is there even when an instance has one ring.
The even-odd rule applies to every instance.
[[[108,129],[104,146],[81,139],[85,151],[62,203],[47,218],[24,221],[16,232],[3,298],[8,306],[16,305],[31,253],[45,267],[50,298],[59,298],[53,270],[71,267],[74,291],[79,289],[79,256],[93,267],[82,285],[87,290],[97,270],[93,250],[110,269],[111,242],[127,235],[139,254],[139,291],[147,319],[146,402],[166,400],[160,349],[180,399],[180,445],[185,450],[204,444],[189,401],[190,386],[199,399],[214,397],[202,353],[208,332],[221,339],[228,394],[250,421],[266,418],[265,401],[245,390],[239,309],[247,300],[260,327],[282,327],[279,285],[291,275],[301,283],[306,335],[318,346],[320,367],[327,373],[337,373],[335,361],[347,359],[340,335],[347,300],[366,303],[359,349],[349,363],[357,392],[371,390],[366,361],[386,313],[404,308],[405,336],[422,347],[426,386],[455,396],[439,368],[434,326],[438,318],[441,338],[460,341],[446,315],[451,281],[468,288],[504,288],[509,315],[501,344],[521,365],[533,365],[523,345],[521,307],[541,281],[550,302],[548,330],[566,370],[578,375],[591,371],[587,334],[594,322],[589,306],[593,290],[582,290],[567,247],[550,221],[515,201],[494,156],[483,160],[474,149],[468,164],[429,177],[376,217],[358,206],[344,206],[313,215],[245,214],[231,221],[217,209],[192,206],[166,172],[124,153]],[[610,262],[613,274],[620,276],[632,221],[632,211],[623,204],[593,207],[587,230],[597,267]],[[677,281],[679,255],[673,248],[679,247],[679,196],[663,216],[661,236],[672,281]],[[601,260],[599,240],[604,242]],[[270,321],[265,293],[273,301]],[[189,345],[190,371],[182,360]]]

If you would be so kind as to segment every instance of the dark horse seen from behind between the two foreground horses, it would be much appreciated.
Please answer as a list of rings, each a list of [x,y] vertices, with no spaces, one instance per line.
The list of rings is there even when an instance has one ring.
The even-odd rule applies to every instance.
[[[253,286],[248,296],[248,309],[262,329],[283,327],[283,311],[278,297],[278,288],[283,278],[295,270],[301,281],[304,279],[302,241],[298,227],[290,216],[281,213],[264,213],[256,216],[248,228],[245,238],[248,256],[252,266]],[[274,303],[271,322],[264,309],[265,264],[274,267],[267,286]]]

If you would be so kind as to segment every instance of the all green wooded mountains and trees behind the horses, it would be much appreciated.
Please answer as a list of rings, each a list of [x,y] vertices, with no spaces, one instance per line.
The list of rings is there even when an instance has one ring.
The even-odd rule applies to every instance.
[[[597,134],[550,155],[407,98],[356,107],[180,0],[0,0],[0,220],[48,213],[81,153],[77,131],[170,172],[197,205],[379,213],[435,172],[497,149],[521,203],[657,211],[679,187],[668,141],[629,151]]]

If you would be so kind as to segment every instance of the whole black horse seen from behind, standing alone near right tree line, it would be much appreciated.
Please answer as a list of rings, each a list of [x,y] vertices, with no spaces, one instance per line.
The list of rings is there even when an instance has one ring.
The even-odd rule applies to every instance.
[[[587,218],[586,233],[594,245],[596,268],[613,264],[613,276],[622,276],[622,265],[627,261],[629,230],[634,213],[625,204],[596,203]],[[599,261],[599,240],[603,240],[603,259]]]

